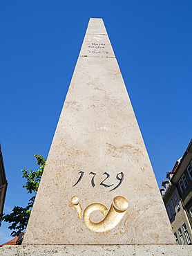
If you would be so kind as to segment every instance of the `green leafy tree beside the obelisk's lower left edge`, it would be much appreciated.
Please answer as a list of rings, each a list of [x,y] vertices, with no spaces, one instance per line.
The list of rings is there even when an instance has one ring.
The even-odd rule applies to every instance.
[[[46,165],[46,159],[44,159],[43,156],[39,155],[35,155],[35,158],[37,158],[36,164],[40,165],[39,170],[31,170],[29,172],[28,170],[24,169],[21,170],[21,172],[23,172],[22,177],[27,180],[26,185],[23,185],[23,188],[26,188],[29,194],[32,194],[32,192],[34,192],[36,195],[39,183],[41,181],[41,176],[44,172],[44,167]],[[15,206],[10,214],[3,214],[2,220],[12,223],[12,225],[8,227],[10,228],[10,230],[13,230],[10,234],[12,237],[17,237],[21,231],[26,229],[34,201],[35,196],[32,196],[26,208]]]

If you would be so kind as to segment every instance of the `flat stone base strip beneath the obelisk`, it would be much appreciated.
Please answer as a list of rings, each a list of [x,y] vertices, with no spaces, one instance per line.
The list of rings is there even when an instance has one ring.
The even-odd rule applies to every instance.
[[[112,246],[2,246],[0,255],[192,255],[192,246],[177,246],[177,245],[112,245]]]

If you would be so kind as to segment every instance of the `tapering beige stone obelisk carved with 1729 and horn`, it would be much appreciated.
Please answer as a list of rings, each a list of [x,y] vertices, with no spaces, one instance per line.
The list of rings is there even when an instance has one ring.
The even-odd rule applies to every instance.
[[[102,19],[90,19],[23,244],[175,244]]]

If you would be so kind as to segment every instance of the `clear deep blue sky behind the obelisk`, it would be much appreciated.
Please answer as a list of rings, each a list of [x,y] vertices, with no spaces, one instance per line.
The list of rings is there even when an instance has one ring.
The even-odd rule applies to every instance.
[[[159,185],[191,140],[191,1],[0,1],[5,213],[28,203],[21,169],[48,155],[90,17],[104,19]]]

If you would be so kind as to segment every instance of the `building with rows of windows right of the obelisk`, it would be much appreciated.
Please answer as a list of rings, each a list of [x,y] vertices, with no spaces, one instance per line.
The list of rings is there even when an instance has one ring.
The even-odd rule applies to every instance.
[[[160,189],[177,244],[192,241],[192,140]]]

